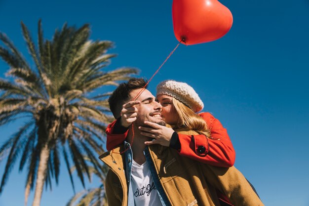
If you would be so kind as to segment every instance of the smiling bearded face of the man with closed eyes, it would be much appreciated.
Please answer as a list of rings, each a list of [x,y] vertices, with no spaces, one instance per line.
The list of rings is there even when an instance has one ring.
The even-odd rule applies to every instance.
[[[132,91],[130,96],[135,98],[141,90],[142,89],[136,89]],[[154,95],[149,90],[145,89],[136,100],[141,101],[140,104],[135,105],[138,109],[137,119],[135,121],[137,126],[146,126],[144,124],[145,121],[165,126],[166,123],[161,117],[162,106],[155,101]]]

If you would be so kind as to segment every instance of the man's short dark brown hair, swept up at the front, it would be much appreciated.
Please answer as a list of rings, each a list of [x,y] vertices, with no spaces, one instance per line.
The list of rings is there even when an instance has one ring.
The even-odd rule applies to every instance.
[[[147,82],[143,78],[131,78],[128,82],[119,84],[109,98],[110,109],[115,119],[120,117],[122,105],[124,105],[131,98],[134,98],[130,96],[131,91],[143,88],[146,83]],[[147,86],[145,88],[147,88]]]

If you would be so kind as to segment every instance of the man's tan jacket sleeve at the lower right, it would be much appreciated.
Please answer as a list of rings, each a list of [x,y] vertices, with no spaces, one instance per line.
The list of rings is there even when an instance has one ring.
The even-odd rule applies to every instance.
[[[201,165],[207,181],[225,194],[234,206],[264,206],[254,188],[234,166]]]

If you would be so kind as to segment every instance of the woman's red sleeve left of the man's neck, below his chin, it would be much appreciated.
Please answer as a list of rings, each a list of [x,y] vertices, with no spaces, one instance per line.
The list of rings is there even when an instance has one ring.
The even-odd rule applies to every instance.
[[[114,127],[117,124],[117,120],[115,120],[113,123],[109,124],[106,128],[106,149],[108,151],[116,148],[117,145],[121,144],[128,133],[128,129],[124,133],[116,134],[114,133]]]

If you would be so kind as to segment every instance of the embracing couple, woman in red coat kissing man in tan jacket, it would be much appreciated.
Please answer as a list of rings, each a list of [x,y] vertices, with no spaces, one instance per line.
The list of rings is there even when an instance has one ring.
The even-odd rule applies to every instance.
[[[197,112],[203,102],[184,82],[163,81],[156,97],[143,79],[121,83],[109,99],[110,206],[264,206],[234,166],[222,124]],[[135,99],[136,98],[136,99]]]

